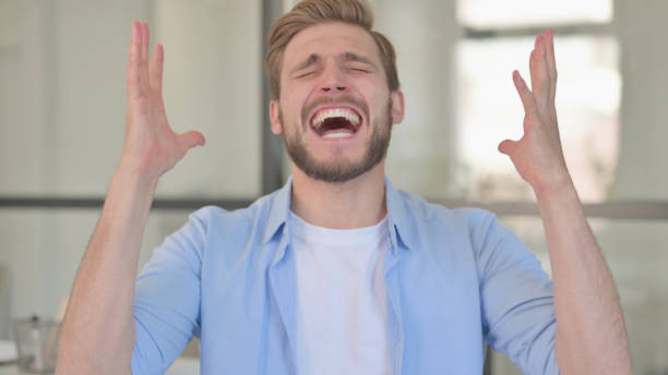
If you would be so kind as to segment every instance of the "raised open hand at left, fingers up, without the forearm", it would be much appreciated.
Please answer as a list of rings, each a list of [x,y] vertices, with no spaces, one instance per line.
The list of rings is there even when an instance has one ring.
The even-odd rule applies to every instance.
[[[204,145],[195,131],[177,134],[167,121],[163,102],[163,46],[156,45],[148,62],[150,32],[146,24],[132,23],[128,62],[128,119],[121,166],[159,178],[186,153]]]

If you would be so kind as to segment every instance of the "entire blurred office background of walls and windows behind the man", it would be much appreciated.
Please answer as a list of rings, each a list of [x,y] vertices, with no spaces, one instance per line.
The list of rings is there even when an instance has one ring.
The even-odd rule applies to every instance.
[[[196,207],[242,207],[283,184],[262,62],[269,25],[294,2],[0,0],[0,339],[70,293],[122,147],[132,21],[165,46],[170,123],[207,138],[162,180],[141,263]],[[496,211],[548,273],[532,191],[497,145],[522,134],[511,72],[528,77],[534,37],[554,28],[565,157],[617,280],[634,370],[668,374],[668,1],[369,2],[406,96],[389,177]],[[518,374],[496,353],[486,372]]]

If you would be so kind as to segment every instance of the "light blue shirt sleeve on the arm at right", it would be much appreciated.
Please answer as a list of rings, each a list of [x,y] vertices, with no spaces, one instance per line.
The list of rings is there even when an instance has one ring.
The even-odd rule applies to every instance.
[[[551,280],[536,256],[493,215],[485,213],[474,221],[489,344],[524,374],[559,374]]]

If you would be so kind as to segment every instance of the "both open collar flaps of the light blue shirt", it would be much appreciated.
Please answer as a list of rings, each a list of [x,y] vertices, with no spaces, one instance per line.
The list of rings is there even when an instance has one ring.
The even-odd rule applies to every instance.
[[[270,210],[264,229],[262,242],[269,242],[276,232],[287,222],[290,211],[290,195],[293,192],[293,177],[290,176],[281,190],[270,197]],[[387,225],[390,227],[390,241],[392,247],[403,244],[406,249],[416,246],[416,227],[407,207],[405,193],[398,192],[385,177],[385,202],[387,204]]]

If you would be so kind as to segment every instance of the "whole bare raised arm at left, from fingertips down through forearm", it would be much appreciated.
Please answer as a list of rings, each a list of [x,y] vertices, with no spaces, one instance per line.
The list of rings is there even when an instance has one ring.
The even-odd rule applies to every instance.
[[[148,62],[148,26],[133,23],[123,154],[72,288],[57,374],[131,373],[134,280],[155,188],[190,148],[204,144],[199,132],[177,134],[167,122],[163,56],[158,45]]]

